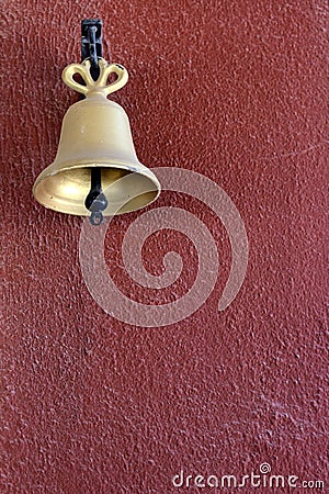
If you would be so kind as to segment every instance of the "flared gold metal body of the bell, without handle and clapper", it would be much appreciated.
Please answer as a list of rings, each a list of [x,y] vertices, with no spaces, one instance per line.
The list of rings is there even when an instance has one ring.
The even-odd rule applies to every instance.
[[[138,210],[159,195],[156,176],[137,159],[126,112],[97,90],[68,109],[55,161],[34,184],[35,199],[63,213],[90,214],[84,200],[93,167],[101,168],[109,201],[104,215]]]

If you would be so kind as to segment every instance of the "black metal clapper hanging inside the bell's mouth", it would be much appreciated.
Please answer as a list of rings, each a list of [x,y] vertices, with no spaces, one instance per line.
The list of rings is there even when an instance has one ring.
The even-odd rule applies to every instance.
[[[103,223],[103,213],[107,207],[107,199],[102,191],[102,169],[90,169],[90,191],[84,200],[86,207],[91,212],[90,223],[94,226]]]

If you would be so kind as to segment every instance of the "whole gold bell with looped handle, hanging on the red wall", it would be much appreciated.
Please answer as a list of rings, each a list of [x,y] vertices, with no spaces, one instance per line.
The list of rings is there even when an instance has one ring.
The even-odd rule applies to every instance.
[[[64,82],[86,99],[68,109],[55,161],[42,171],[33,187],[35,199],[44,206],[78,215],[91,211],[94,224],[102,221],[102,214],[139,210],[160,193],[157,177],[138,161],[126,112],[106,98],[127,82],[127,70],[118,64],[109,65],[101,57],[98,61],[97,81],[91,77],[89,59],[64,69]],[[76,74],[86,86],[73,79]],[[107,85],[111,74],[117,79]],[[120,180],[131,173],[134,176],[129,180]],[[107,187],[111,197],[105,198],[103,191]]]

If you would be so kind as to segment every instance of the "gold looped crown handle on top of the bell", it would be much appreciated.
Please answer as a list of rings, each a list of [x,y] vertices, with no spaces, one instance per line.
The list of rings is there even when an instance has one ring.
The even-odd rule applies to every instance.
[[[100,77],[94,81],[90,75],[90,60],[86,59],[82,64],[70,64],[61,74],[63,81],[71,89],[86,97],[92,92],[103,93],[104,97],[123,88],[128,80],[127,70],[120,64],[107,65],[104,58],[99,57]],[[77,82],[73,76],[79,74],[86,86]],[[110,74],[115,74],[117,79],[106,86]]]

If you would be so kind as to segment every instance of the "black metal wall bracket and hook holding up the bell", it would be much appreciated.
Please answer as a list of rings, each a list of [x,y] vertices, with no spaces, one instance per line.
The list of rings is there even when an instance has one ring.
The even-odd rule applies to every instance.
[[[81,61],[90,59],[90,74],[93,80],[100,75],[98,57],[103,56],[102,20],[83,19],[81,21]]]

